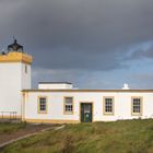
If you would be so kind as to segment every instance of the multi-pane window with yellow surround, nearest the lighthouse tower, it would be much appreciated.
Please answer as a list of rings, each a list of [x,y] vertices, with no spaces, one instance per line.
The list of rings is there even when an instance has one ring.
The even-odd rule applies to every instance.
[[[47,113],[47,97],[38,98],[38,113]]]

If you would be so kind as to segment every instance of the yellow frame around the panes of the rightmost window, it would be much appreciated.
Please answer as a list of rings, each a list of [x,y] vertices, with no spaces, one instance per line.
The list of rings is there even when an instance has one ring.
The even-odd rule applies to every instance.
[[[133,99],[139,98],[140,99],[140,113],[133,113]],[[142,116],[143,110],[143,97],[142,96],[132,96],[131,97],[131,116]]]

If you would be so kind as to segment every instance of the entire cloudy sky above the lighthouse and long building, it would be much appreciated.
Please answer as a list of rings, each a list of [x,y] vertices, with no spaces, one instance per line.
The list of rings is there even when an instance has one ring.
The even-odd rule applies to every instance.
[[[0,0],[0,49],[33,56],[32,82],[153,89],[153,0]]]

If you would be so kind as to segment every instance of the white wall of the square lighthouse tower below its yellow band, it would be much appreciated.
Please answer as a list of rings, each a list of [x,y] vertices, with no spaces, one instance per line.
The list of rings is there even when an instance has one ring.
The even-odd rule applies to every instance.
[[[17,116],[21,116],[21,91],[31,87],[31,66],[27,64],[28,74],[25,74],[24,64],[0,62],[0,111],[17,111]]]

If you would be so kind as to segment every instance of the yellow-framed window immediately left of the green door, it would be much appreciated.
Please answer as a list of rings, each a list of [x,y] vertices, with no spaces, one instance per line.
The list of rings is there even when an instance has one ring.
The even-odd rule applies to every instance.
[[[64,113],[66,114],[73,113],[73,97],[64,97]]]

